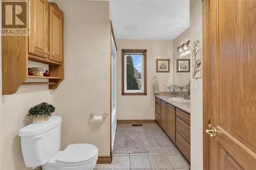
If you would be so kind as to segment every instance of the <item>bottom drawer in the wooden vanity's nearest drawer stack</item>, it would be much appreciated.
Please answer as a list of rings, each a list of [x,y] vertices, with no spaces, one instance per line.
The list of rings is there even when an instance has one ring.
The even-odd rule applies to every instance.
[[[177,132],[176,145],[190,162],[190,144]]]

